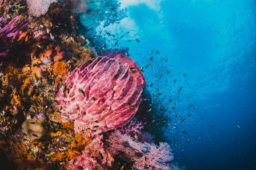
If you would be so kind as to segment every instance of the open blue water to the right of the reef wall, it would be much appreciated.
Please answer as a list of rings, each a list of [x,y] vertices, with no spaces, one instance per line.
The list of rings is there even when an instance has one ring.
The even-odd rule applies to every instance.
[[[151,93],[166,95],[174,161],[187,170],[256,170],[256,2],[121,2],[129,17],[103,31],[125,35],[116,47],[127,46],[144,67]]]

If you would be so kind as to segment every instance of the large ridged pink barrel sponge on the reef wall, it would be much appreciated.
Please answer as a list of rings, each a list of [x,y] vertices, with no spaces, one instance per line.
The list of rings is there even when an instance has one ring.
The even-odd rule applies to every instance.
[[[144,75],[131,58],[99,56],[70,73],[56,100],[63,120],[94,124],[99,126],[97,132],[105,132],[130,121],[145,85]]]

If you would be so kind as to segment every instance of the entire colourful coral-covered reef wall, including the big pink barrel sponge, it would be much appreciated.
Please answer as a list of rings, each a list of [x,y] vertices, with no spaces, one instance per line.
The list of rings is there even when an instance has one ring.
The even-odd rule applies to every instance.
[[[179,169],[166,168],[168,144],[143,131],[150,92],[128,48],[106,50],[87,25],[126,10],[117,0],[53,2],[0,1],[0,152],[17,170]]]

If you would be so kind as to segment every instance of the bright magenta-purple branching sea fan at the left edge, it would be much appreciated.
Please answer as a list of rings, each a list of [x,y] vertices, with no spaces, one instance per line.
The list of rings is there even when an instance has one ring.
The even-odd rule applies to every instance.
[[[11,47],[11,45],[8,46],[8,38],[17,35],[20,30],[24,29],[27,26],[27,24],[23,24],[25,22],[25,19],[22,19],[17,24],[14,24],[14,22],[18,21],[19,18],[20,15],[16,16],[9,22],[9,24],[0,29],[0,56],[6,56],[7,53],[10,51],[9,48]],[[5,19],[1,17],[0,26],[4,21]]]

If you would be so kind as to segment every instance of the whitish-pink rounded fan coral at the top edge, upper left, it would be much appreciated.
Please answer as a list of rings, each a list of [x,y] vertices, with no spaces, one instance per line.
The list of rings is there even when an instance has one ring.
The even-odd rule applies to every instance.
[[[53,2],[57,2],[57,0],[27,0],[29,14],[36,17],[44,15]]]

